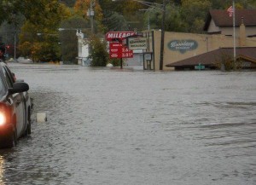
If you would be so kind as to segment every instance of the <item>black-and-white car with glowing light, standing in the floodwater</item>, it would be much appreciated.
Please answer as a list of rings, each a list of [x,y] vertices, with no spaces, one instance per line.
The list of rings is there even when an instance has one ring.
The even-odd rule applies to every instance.
[[[31,134],[32,101],[29,85],[0,61],[0,147],[15,147],[21,136]]]

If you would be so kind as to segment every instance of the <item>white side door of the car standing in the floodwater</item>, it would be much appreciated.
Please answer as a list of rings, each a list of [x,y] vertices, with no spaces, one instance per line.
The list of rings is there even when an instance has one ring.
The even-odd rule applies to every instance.
[[[5,67],[3,67],[3,76],[6,80],[8,88],[12,88],[14,82],[12,80],[12,77],[9,76],[9,72]],[[15,93],[13,95],[10,95],[9,98],[13,100],[13,104],[15,107],[17,137],[20,137],[26,127],[26,112],[23,95],[22,93]]]

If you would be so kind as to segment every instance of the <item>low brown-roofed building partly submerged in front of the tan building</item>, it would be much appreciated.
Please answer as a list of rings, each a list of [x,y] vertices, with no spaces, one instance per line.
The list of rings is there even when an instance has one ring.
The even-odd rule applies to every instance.
[[[195,70],[199,66],[203,66],[203,69],[216,69],[216,64],[222,60],[222,57],[232,57],[232,55],[233,48],[221,48],[166,66],[175,67],[175,70]],[[241,61],[243,69],[256,69],[256,47],[236,48],[236,59]]]

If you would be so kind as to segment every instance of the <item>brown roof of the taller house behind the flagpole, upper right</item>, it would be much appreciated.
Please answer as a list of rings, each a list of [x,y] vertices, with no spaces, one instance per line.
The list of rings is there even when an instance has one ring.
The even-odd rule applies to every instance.
[[[256,26],[256,9],[236,9],[235,11],[235,25],[241,25],[241,18],[245,26]],[[204,31],[208,30],[211,20],[216,26],[233,26],[233,17],[225,9],[212,9],[207,14],[207,20],[204,26]]]

